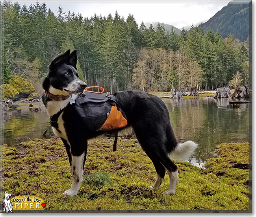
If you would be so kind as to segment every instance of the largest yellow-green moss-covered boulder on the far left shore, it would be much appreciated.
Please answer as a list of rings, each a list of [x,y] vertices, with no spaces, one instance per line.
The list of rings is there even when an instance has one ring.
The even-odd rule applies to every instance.
[[[32,83],[22,77],[11,76],[9,83],[19,92],[25,92],[25,93],[35,92],[35,88],[33,87]]]

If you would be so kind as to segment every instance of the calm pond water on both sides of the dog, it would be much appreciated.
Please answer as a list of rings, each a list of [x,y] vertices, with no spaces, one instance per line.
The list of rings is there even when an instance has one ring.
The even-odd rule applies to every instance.
[[[190,99],[163,99],[179,142],[192,140],[198,143],[194,156],[188,161],[204,167],[210,153],[224,142],[249,140],[249,105],[240,104],[240,108],[227,108],[229,99],[198,97]],[[4,143],[15,146],[34,138],[53,136],[49,116],[45,107],[41,111],[31,112],[28,108],[9,110],[4,116]],[[45,137],[43,133],[46,132]]]

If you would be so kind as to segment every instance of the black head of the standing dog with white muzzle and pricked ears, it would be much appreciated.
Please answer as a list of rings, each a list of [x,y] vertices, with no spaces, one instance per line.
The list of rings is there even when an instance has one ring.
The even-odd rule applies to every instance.
[[[78,78],[76,72],[76,50],[56,57],[49,65],[49,72],[43,81],[43,88],[54,95],[67,96],[69,94],[83,93],[87,86]]]

